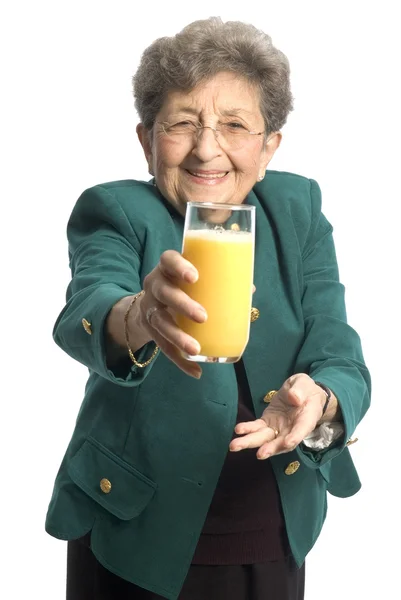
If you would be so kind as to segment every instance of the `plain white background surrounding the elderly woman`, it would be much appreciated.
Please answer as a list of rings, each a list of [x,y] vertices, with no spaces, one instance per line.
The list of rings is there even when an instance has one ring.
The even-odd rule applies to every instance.
[[[351,447],[363,488],[329,499],[307,600],[399,597],[400,42],[397,2],[14,0],[1,44],[1,589],[64,598],[66,544],[45,534],[86,370],[53,343],[79,194],[147,179],[131,75],[155,38],[220,15],[268,32],[292,66],[295,111],[271,168],[313,177],[334,225],[349,320],[373,378]],[[296,502],[296,498],[294,498]],[[274,599],[272,599],[274,600]]]

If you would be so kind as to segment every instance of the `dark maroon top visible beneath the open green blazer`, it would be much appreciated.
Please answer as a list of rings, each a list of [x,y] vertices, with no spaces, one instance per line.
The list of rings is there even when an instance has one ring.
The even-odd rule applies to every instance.
[[[235,364],[235,370],[237,423],[251,421],[255,413],[242,361]],[[289,554],[270,460],[258,460],[256,449],[228,452],[192,563],[244,565],[280,560]]]

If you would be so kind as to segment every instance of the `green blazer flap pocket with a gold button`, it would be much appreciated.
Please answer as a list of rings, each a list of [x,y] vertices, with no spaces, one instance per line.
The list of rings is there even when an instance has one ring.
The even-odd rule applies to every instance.
[[[71,459],[68,474],[88,496],[123,521],[137,517],[157,487],[91,437]]]

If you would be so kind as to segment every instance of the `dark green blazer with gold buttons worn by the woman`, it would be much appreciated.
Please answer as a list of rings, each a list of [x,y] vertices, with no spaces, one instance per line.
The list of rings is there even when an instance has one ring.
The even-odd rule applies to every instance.
[[[272,457],[298,565],[326,515],[327,490],[357,492],[347,440],[369,406],[360,340],[347,324],[332,227],[317,183],[267,171],[247,200],[256,206],[256,292],[244,364],[257,417],[263,398],[304,372],[336,394],[345,436],[328,449],[301,444]],[[227,453],[237,412],[233,365],[205,365],[198,381],[163,354],[145,369],[110,370],[104,323],[167,249],[181,250],[183,218],[151,183],[86,190],[69,224],[72,271],[56,343],[89,379],[57,474],[46,530],[60,539],[91,531],[98,560],[117,575],[175,600],[189,569]],[[144,360],[149,343],[138,353]],[[288,468],[289,467],[289,468]],[[298,468],[297,468],[298,467]]]

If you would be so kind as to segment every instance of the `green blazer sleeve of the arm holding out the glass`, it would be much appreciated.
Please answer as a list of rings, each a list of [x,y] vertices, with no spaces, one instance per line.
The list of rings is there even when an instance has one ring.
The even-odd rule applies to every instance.
[[[67,226],[71,282],[67,303],[53,330],[56,342],[69,356],[118,385],[140,384],[154,361],[143,369],[127,360],[112,370],[106,364],[104,327],[107,315],[124,296],[141,290],[141,247],[115,195],[96,186],[78,199]],[[152,353],[146,344],[142,362]]]

